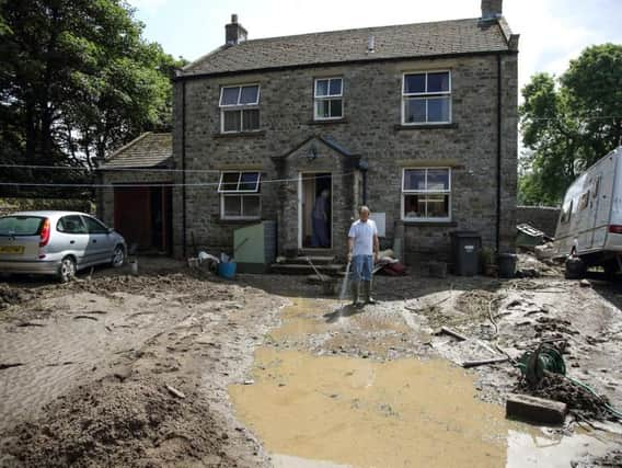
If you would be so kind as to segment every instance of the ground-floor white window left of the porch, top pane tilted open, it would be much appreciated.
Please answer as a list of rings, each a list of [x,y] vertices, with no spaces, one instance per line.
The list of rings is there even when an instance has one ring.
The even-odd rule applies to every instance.
[[[260,219],[262,199],[260,172],[222,172],[220,193],[221,219]]]

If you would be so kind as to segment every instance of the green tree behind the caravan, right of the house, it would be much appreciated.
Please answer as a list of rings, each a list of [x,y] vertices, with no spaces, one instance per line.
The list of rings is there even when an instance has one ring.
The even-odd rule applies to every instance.
[[[558,204],[575,178],[622,137],[622,46],[585,49],[560,80],[538,73],[522,89],[519,199]]]

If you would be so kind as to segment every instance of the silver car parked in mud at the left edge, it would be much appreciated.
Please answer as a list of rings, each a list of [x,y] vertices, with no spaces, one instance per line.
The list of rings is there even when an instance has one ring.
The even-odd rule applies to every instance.
[[[126,252],[123,236],[83,213],[0,216],[1,273],[50,274],[65,283],[89,266],[122,266]]]

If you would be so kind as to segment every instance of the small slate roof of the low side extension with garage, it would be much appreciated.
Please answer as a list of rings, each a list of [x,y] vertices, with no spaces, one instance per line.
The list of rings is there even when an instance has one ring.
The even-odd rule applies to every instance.
[[[168,165],[172,159],[172,135],[147,132],[113,152],[100,169],[157,168]]]

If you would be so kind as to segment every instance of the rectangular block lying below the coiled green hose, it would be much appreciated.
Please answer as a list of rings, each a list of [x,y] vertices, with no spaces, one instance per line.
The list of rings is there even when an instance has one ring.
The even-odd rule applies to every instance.
[[[506,418],[556,425],[564,423],[567,413],[568,406],[561,401],[518,393],[507,396]]]

